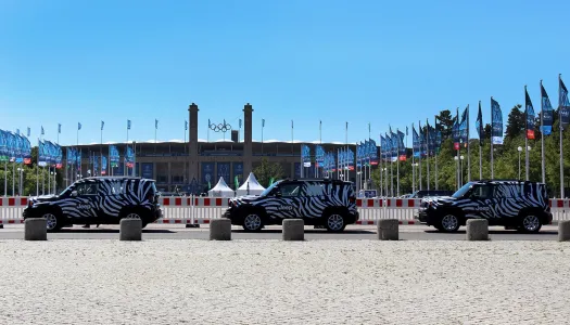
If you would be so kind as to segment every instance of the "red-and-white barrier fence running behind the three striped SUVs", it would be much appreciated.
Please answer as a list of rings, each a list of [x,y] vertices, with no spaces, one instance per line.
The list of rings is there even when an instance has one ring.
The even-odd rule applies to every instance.
[[[27,197],[0,197],[0,224],[23,223],[22,212]],[[357,224],[375,225],[381,219],[397,219],[401,224],[415,224],[421,199],[413,198],[358,198],[360,214]],[[228,198],[220,197],[161,197],[164,218],[162,224],[207,224],[220,218],[228,207]],[[570,199],[550,199],[554,221],[570,220]]]

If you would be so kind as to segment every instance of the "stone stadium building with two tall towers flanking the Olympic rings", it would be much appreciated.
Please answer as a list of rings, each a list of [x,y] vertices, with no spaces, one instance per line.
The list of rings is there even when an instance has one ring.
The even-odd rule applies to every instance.
[[[179,188],[188,193],[201,193],[207,190],[208,182],[214,186],[220,177],[226,183],[236,188],[235,179],[242,183],[250,171],[261,165],[262,158],[269,162],[280,164],[283,170],[282,178],[301,177],[301,145],[311,146],[315,154],[318,142],[254,142],[252,140],[253,107],[249,103],[243,107],[243,139],[237,130],[231,130],[231,139],[226,141],[206,142],[198,139],[199,108],[192,103],[189,108],[189,141],[188,142],[137,142],[135,143],[135,171],[139,177],[156,180],[156,186],[162,192],[174,192]],[[113,143],[121,155],[125,153],[126,143]],[[325,152],[334,152],[346,147],[341,143],[322,143]],[[129,143],[132,146],[132,143]],[[355,151],[355,145],[350,145]],[[81,150],[81,173],[88,176],[87,170],[90,155],[109,153],[109,143],[74,146]],[[65,150],[64,150],[65,153]],[[65,154],[64,154],[65,156]],[[123,157],[121,157],[123,160]],[[124,162],[113,168],[114,176],[125,174]],[[307,177],[315,176],[315,164],[305,168]],[[107,174],[111,174],[107,171]],[[334,178],[337,176],[334,174]],[[351,171],[349,179],[354,182],[355,171]],[[267,186],[268,184],[262,184]]]

